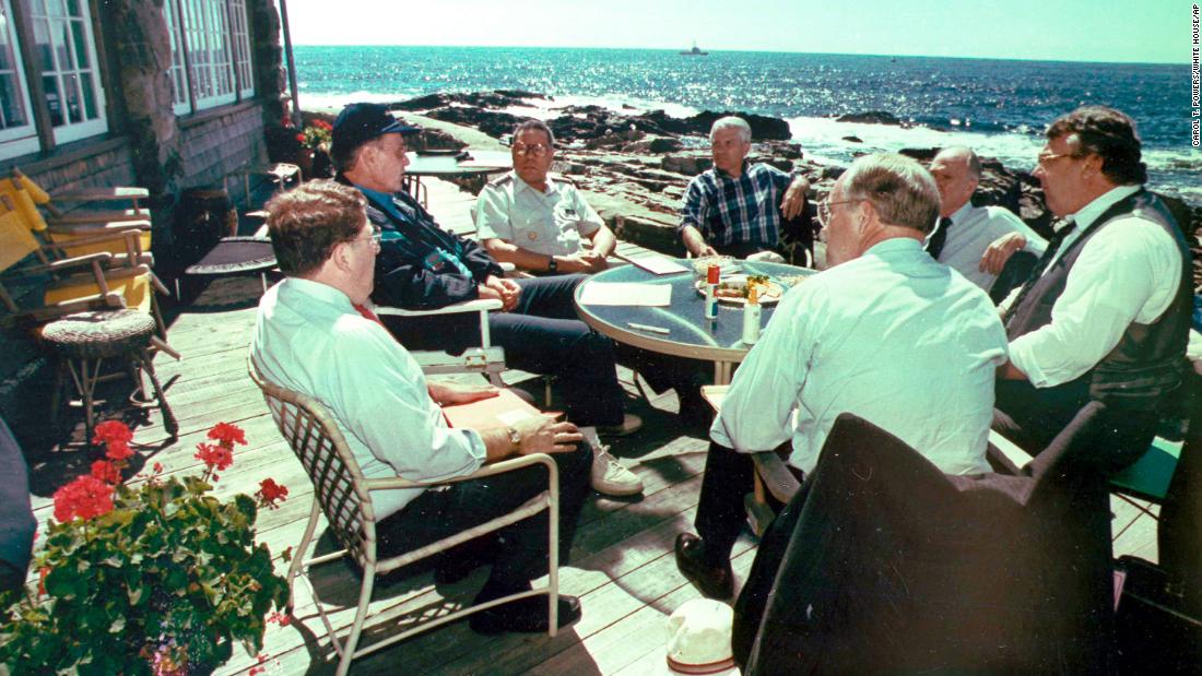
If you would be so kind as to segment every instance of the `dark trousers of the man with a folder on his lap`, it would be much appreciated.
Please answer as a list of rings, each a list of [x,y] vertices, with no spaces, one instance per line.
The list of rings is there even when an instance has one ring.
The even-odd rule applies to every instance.
[[[589,490],[593,449],[555,453],[559,467],[559,562],[567,563],[576,524]],[[381,557],[395,556],[512,512],[547,490],[547,469],[526,467],[483,479],[430,489],[376,526]],[[500,531],[500,546],[486,590],[501,596],[547,574],[547,512]]]

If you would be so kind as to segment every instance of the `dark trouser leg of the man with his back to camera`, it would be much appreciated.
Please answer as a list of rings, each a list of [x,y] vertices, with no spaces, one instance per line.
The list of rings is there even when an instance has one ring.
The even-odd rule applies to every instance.
[[[787,448],[787,443],[785,444]],[[801,472],[790,467],[802,479]],[[706,473],[701,479],[701,497],[694,526],[706,542],[706,557],[712,563],[725,563],[731,558],[734,540],[746,521],[743,496],[755,486],[755,462],[751,456],[738,453],[718,442],[709,442],[706,455]],[[772,496],[768,496],[772,501]],[[772,501],[774,507],[780,504]]]

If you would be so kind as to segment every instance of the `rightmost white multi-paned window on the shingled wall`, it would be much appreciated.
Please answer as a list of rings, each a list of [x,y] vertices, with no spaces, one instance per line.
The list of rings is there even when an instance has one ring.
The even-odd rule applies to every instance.
[[[177,114],[255,94],[245,0],[167,0]]]

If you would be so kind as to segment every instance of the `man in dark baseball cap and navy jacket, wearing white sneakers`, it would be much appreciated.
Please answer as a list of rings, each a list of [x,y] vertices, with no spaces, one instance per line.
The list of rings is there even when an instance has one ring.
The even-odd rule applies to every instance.
[[[642,424],[624,414],[624,394],[609,339],[581,322],[573,291],[584,276],[508,280],[475,241],[442,231],[401,186],[405,134],[418,131],[395,120],[383,106],[352,103],[334,122],[332,155],[340,183],[368,199],[368,220],[381,231],[375,291],[380,305],[433,309],[477,298],[502,303],[489,316],[493,340],[506,361],[523,371],[553,375],[563,385],[567,417],[597,432],[621,435]],[[462,352],[478,336],[472,313],[419,318],[388,317],[393,335],[409,349]],[[596,454],[595,489],[631,495],[642,481],[608,453]]]

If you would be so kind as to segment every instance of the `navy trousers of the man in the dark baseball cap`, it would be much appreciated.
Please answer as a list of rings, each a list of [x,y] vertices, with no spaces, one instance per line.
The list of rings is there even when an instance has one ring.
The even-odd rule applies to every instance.
[[[561,387],[569,420],[577,425],[621,423],[624,394],[614,370],[609,339],[594,333],[576,315],[573,292],[584,275],[516,280],[522,287],[518,306],[492,312],[493,342],[505,348],[514,369],[554,376]],[[474,313],[385,318],[388,329],[409,349],[445,349],[458,354],[480,345]]]

